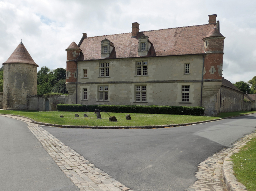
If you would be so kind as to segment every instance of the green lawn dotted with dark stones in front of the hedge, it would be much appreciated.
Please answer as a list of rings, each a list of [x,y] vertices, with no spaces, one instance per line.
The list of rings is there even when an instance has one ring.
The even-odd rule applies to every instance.
[[[208,116],[186,116],[186,115],[162,115],[162,114],[139,114],[129,113],[132,120],[126,120],[128,113],[109,113],[117,118],[117,122],[109,122],[109,115],[101,112],[102,119],[96,119],[94,112],[59,112],[59,111],[11,111],[0,110],[0,113],[13,114],[29,117],[37,122],[59,124],[59,125],[88,125],[88,126],[144,126],[144,125],[169,125],[199,122],[218,117]],[[77,113],[80,117],[75,117]],[[86,113],[88,117],[83,117]],[[94,114],[94,115],[93,115]],[[63,115],[64,118],[60,118]]]

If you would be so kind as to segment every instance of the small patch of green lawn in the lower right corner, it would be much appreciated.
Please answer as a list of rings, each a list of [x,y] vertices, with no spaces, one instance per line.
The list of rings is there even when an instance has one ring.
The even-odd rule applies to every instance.
[[[256,190],[256,138],[243,146],[239,153],[231,156],[234,174],[248,191]]]

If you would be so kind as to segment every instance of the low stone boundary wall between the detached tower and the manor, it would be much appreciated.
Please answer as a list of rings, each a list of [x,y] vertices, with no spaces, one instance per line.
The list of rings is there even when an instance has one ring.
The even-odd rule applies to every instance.
[[[46,111],[46,100],[49,100],[49,111],[57,111],[57,104],[68,104],[68,96],[52,95],[45,97],[43,95],[28,95],[27,110],[30,111]]]

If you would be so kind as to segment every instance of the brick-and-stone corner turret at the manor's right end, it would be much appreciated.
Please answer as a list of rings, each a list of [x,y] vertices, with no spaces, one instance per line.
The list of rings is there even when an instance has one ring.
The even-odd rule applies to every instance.
[[[206,55],[203,68],[202,106],[205,108],[204,113],[208,116],[215,116],[219,111],[224,39],[219,27],[211,29],[209,34],[203,38]]]

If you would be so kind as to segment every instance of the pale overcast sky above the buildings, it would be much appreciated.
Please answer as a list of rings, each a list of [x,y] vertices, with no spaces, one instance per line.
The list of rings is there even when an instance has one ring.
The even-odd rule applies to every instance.
[[[88,37],[208,24],[217,14],[224,40],[223,77],[256,76],[255,0],[0,0],[0,63],[20,43],[40,67],[66,68],[65,49]]]

